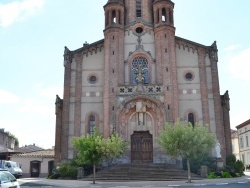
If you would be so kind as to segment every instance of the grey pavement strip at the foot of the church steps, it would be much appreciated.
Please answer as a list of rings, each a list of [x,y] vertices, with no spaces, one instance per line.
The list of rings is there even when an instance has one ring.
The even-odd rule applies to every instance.
[[[246,172],[245,176],[239,178],[220,178],[220,179],[203,179],[193,180],[192,183],[186,181],[97,181],[93,184],[92,181],[79,180],[50,180],[45,178],[24,178],[18,179],[21,187],[25,183],[36,183],[47,186],[40,187],[71,187],[71,188],[171,188],[171,187],[200,187],[205,185],[227,185],[231,183],[243,184],[250,182],[250,172]]]

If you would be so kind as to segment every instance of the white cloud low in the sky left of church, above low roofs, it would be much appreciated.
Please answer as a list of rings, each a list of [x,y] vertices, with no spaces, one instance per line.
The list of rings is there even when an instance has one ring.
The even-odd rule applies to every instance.
[[[28,95],[0,88],[0,128],[17,136],[21,146],[36,143],[51,148],[55,140],[56,94],[62,95],[62,87],[45,87],[42,83],[33,85]]]

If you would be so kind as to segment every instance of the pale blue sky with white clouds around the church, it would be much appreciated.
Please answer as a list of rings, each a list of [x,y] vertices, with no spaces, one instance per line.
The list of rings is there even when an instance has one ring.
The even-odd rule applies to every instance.
[[[63,97],[64,46],[103,39],[107,0],[0,0],[0,128],[20,146],[55,143],[55,98]],[[250,119],[250,1],[173,0],[176,36],[217,41],[220,92],[231,128]]]

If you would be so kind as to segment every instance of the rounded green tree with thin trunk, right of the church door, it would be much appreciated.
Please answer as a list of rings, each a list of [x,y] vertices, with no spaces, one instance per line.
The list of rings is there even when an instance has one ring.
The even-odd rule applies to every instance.
[[[160,132],[158,143],[172,157],[182,157],[187,160],[188,182],[191,182],[190,161],[206,156],[215,146],[215,136],[208,127],[177,120],[174,125],[166,124]]]

